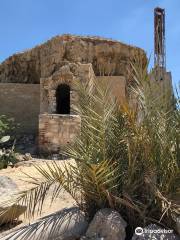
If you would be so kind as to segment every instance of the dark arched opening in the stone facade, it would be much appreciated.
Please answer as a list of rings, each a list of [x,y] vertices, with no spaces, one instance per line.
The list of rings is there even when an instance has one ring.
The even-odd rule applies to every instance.
[[[56,89],[56,113],[70,114],[70,87],[61,84]]]

